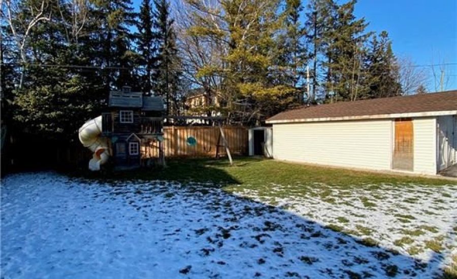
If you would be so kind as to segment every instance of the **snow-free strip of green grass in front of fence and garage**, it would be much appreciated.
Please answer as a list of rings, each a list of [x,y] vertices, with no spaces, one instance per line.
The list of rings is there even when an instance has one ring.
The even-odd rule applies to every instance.
[[[280,162],[276,160],[258,159],[250,157],[234,158],[231,166],[228,160],[203,159],[170,159],[166,168],[139,169],[132,171],[106,171],[91,173],[80,171],[71,175],[88,179],[104,181],[113,180],[168,180],[178,182],[212,182],[222,186],[258,188],[264,185],[297,185],[301,182],[338,186],[344,189],[356,189],[360,185],[379,184],[397,185],[404,187],[409,184],[446,185],[449,181],[401,175],[386,175],[369,171],[331,168],[297,163]],[[297,187],[299,189],[299,187]],[[301,193],[308,189],[302,187]]]

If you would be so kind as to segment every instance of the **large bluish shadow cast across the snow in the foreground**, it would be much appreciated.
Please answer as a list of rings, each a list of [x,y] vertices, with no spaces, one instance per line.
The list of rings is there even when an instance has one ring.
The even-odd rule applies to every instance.
[[[239,183],[211,166],[176,171]],[[443,258],[372,246],[209,183],[116,178],[6,177],[2,277],[415,277],[436,275]]]

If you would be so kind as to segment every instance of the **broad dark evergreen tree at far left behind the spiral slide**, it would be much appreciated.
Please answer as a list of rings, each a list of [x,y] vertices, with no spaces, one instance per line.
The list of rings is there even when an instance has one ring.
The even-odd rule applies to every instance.
[[[79,34],[70,27],[75,24],[70,7],[54,2],[49,5],[50,11],[59,12],[58,16],[29,30],[30,64],[25,65],[23,86],[13,90],[11,97],[14,132],[74,142],[78,127],[100,110],[104,96],[96,94],[100,81],[93,72],[77,67],[88,63],[93,55],[81,45],[87,41],[78,39]],[[30,16],[24,11],[18,13]],[[97,32],[87,29],[89,26],[83,26],[87,34]]]

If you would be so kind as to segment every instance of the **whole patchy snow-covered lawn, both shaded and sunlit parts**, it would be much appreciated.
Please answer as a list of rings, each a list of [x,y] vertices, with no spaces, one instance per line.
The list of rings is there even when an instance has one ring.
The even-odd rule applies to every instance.
[[[456,243],[457,186],[265,199],[241,187],[234,195],[212,185],[23,173],[6,177],[1,191],[5,278],[429,278]],[[327,227],[335,224],[347,233]],[[414,228],[423,233],[412,243],[394,244]],[[408,249],[428,240],[439,241],[439,253]]]

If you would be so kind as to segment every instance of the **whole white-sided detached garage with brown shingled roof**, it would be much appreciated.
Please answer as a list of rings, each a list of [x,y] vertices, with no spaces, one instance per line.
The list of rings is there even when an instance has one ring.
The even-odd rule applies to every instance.
[[[303,107],[267,123],[279,160],[428,175],[457,163],[457,91]]]

